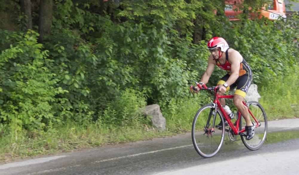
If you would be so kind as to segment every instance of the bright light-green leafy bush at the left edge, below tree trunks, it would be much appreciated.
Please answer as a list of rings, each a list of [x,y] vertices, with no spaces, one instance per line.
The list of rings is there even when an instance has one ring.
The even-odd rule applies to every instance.
[[[59,81],[45,62],[47,52],[41,51],[33,31],[21,35],[22,40],[0,55],[1,108],[0,119],[13,130],[44,128],[49,122],[60,122],[55,109],[55,95],[67,92],[56,87]],[[17,37],[18,38],[18,37]]]

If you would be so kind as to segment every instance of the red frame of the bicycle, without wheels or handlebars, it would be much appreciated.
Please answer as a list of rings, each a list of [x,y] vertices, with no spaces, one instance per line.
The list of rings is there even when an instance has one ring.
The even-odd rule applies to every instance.
[[[221,103],[219,98],[227,98],[227,99],[232,99],[234,98],[234,95],[219,95],[218,92],[216,92],[217,88],[214,89],[214,93],[215,93],[215,97],[214,97],[214,101],[213,103],[216,104],[216,108],[215,111],[217,111],[217,108],[220,109],[220,111],[222,112],[223,116],[225,117],[225,120],[228,122],[228,125],[231,127],[231,129],[234,131],[235,135],[244,135],[246,136],[246,134],[244,134],[243,132],[245,132],[245,128],[242,128],[241,130],[239,130],[239,120],[241,117],[241,112],[238,111],[238,118],[236,121],[236,126],[232,123],[231,118],[228,116],[228,114],[225,112],[225,110],[222,108]],[[246,106],[246,108],[248,109],[249,115],[254,119],[254,121],[257,123],[255,127],[260,126],[260,123],[258,123],[257,119],[254,117],[254,115],[251,113],[251,111],[249,110],[248,106],[246,105],[246,103],[244,101],[242,101],[242,103]],[[208,121],[209,122],[209,121]],[[214,124],[213,124],[214,125]],[[213,126],[214,128],[214,126]]]

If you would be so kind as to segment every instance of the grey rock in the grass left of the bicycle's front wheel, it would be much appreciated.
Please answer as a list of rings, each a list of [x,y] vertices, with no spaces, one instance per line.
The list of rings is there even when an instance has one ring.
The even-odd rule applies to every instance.
[[[166,129],[166,119],[163,117],[160,106],[157,104],[152,104],[146,106],[144,109],[145,117],[152,116],[151,120],[155,127],[157,127],[161,131],[165,131]]]

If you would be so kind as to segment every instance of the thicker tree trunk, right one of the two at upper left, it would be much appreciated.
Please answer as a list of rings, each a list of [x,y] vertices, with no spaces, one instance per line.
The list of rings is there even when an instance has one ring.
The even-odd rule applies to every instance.
[[[50,34],[52,25],[53,0],[41,0],[39,9],[39,43],[43,43],[43,37]]]

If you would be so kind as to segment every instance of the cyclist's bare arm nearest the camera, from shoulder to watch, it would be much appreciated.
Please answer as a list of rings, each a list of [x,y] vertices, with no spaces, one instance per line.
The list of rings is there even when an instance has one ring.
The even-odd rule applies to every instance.
[[[228,86],[233,84],[238,79],[239,70],[240,70],[240,60],[242,60],[242,59],[243,58],[238,51],[233,50],[233,52],[231,52],[231,54],[228,58],[228,61],[231,63],[231,75],[229,76],[228,80],[226,81]]]

